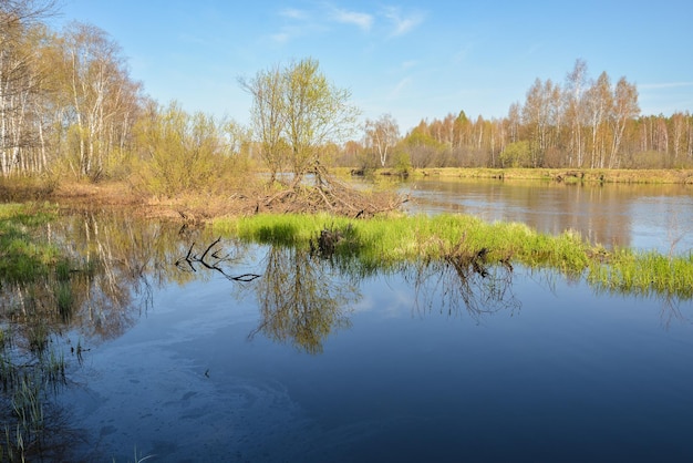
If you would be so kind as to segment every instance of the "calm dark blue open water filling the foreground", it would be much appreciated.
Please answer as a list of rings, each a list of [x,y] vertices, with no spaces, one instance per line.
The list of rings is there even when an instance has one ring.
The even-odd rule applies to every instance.
[[[125,461],[135,445],[167,462],[693,454],[690,302],[596,295],[523,268],[464,288],[451,272],[413,277],[331,286],[351,303],[318,349],[297,333],[311,325],[300,310],[258,332],[257,288],[219,276],[166,286],[85,356],[61,399],[91,434],[89,459]]]

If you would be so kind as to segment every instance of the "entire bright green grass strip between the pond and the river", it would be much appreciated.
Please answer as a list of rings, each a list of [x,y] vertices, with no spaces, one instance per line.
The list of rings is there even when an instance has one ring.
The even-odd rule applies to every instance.
[[[397,268],[416,260],[449,256],[488,264],[552,268],[610,290],[693,297],[693,254],[607,249],[572,232],[551,236],[518,223],[486,223],[465,215],[379,217],[354,220],[330,215],[257,215],[218,219],[215,229],[251,241],[312,247],[325,233],[341,257],[355,258],[364,270]]]

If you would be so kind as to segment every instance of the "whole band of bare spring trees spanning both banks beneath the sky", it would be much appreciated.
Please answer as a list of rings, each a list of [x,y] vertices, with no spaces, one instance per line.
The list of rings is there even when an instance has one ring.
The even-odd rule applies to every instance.
[[[592,80],[581,60],[562,84],[537,79],[524,103],[514,103],[503,119],[473,120],[461,111],[400,134],[397,122],[383,114],[351,132],[333,123],[320,138],[306,141],[300,135],[314,133],[313,126],[262,133],[257,111],[265,111],[265,93],[256,91],[272,72],[286,78],[306,68],[314,78],[309,82],[322,85],[319,92],[335,96],[323,101],[351,109],[348,92],[328,85],[316,61],[241,82],[255,97],[251,123],[244,126],[152,100],[105,31],[76,22],[55,31],[46,20],[54,10],[52,0],[0,2],[0,177],[127,178],[172,195],[242,177],[256,165],[267,167],[268,160],[271,168],[281,167],[276,156],[283,154],[292,156],[293,168],[296,160],[318,158],[323,165],[401,168],[693,166],[691,114],[642,116],[634,84],[624,78],[612,83],[606,73]],[[271,155],[268,141],[278,150]]]

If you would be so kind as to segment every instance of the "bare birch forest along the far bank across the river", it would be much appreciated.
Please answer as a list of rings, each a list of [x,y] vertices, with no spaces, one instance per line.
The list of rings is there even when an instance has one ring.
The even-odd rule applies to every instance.
[[[508,115],[469,119],[464,111],[423,120],[403,137],[390,115],[366,122],[362,144],[342,163],[363,167],[681,168],[693,166],[693,116],[640,115],[625,78],[590,79],[577,60],[562,84],[537,79]]]

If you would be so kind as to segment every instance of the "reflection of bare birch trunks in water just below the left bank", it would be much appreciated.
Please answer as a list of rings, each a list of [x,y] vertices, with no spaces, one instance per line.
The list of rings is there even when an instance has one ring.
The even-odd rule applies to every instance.
[[[174,224],[117,213],[84,212],[63,218],[50,238],[89,271],[75,271],[68,328],[92,342],[114,339],[152,306],[153,289],[192,277],[172,272],[170,256],[185,240]]]

